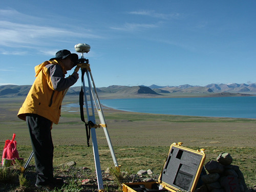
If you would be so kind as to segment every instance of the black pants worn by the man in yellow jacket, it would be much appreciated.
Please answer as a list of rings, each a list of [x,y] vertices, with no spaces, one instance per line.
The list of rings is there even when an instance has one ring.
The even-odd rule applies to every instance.
[[[36,184],[47,184],[53,179],[52,122],[36,114],[27,114],[26,122],[34,152]]]

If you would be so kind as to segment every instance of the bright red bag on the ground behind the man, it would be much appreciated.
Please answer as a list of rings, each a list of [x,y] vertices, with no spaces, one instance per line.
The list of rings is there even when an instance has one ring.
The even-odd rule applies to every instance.
[[[6,159],[16,159],[18,157],[18,151],[17,151],[17,142],[14,141],[15,138],[15,133],[12,136],[12,140],[6,140],[5,141],[5,147],[4,147],[4,152],[3,152],[3,157],[2,157],[2,164],[4,162],[4,158]]]

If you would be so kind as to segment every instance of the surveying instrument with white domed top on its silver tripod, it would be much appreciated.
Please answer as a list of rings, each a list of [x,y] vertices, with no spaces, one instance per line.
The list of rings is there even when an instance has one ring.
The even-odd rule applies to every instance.
[[[93,153],[94,153],[94,162],[95,162],[95,168],[96,168],[96,174],[97,174],[97,182],[98,182],[98,189],[99,191],[104,191],[103,187],[103,181],[102,181],[102,174],[101,174],[101,168],[100,168],[100,160],[99,160],[99,152],[98,152],[98,143],[97,143],[97,137],[96,137],[96,129],[98,127],[102,127],[105,133],[106,140],[108,141],[108,145],[110,148],[110,152],[112,155],[112,159],[114,161],[116,169],[120,172],[120,167],[118,166],[115,152],[111,143],[111,139],[109,136],[109,132],[107,129],[107,125],[105,123],[105,118],[101,109],[101,104],[99,101],[99,97],[96,91],[95,83],[93,80],[89,59],[84,58],[83,54],[88,53],[90,51],[91,47],[88,44],[77,44],[75,45],[75,50],[78,53],[81,53],[81,58],[78,59],[77,67],[81,69],[82,77],[82,86],[81,91],[79,95],[79,105],[80,105],[80,115],[81,120],[86,123],[86,132],[87,132],[87,144],[89,145],[89,139],[90,135],[92,137],[92,144],[93,144]],[[88,80],[88,88],[86,87],[86,83],[84,82],[84,74],[87,75]],[[89,92],[89,93],[88,93]],[[84,97],[84,102],[83,102]],[[87,112],[87,122],[84,120],[83,116],[83,104],[86,104],[86,112]],[[91,108],[90,108],[91,106]],[[95,119],[95,113],[94,108],[98,112],[100,124],[96,124]],[[91,110],[90,110],[91,109]]]

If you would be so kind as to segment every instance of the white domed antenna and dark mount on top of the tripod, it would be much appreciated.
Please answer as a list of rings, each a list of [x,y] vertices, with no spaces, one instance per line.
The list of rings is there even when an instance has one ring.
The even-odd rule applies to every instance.
[[[91,49],[91,46],[88,44],[76,44],[75,50],[78,53],[81,53],[81,58],[77,61],[77,67],[80,67],[81,69],[90,69],[89,59],[84,58],[83,53],[88,53]]]

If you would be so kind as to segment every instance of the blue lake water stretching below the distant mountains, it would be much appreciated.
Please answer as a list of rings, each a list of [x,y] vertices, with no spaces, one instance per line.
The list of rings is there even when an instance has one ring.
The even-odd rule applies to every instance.
[[[200,97],[200,98],[140,98],[103,99],[109,108],[152,114],[188,115],[203,117],[256,118],[256,97]],[[62,106],[62,110],[79,104]]]

